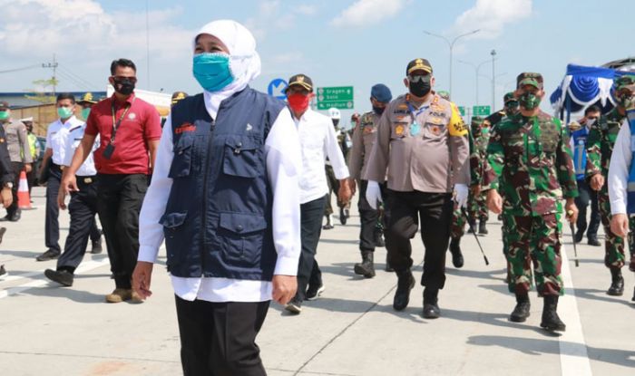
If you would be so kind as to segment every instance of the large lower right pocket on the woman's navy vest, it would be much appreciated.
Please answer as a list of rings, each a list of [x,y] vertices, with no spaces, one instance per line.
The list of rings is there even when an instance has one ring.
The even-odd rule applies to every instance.
[[[230,265],[255,267],[260,262],[267,222],[254,214],[220,213],[217,236]]]

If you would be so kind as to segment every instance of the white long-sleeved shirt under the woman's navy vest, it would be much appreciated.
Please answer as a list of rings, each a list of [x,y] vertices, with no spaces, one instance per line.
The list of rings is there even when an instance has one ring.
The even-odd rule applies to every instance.
[[[206,101],[206,104],[207,101]],[[212,118],[218,108],[206,106]],[[152,182],[139,218],[139,261],[154,263],[163,241],[159,219],[165,212],[172,179],[168,177],[174,157],[171,117],[163,126]],[[298,133],[288,109],[280,111],[265,140],[269,184],[273,191],[272,228],[278,260],[274,275],[297,275],[300,254],[300,205],[298,177],[301,172]],[[171,275],[175,294],[185,300],[209,302],[263,302],[271,299],[268,281],[230,278],[184,278]]]

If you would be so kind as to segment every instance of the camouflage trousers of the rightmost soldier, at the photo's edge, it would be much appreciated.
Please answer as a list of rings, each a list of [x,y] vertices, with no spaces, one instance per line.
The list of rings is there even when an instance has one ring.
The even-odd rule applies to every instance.
[[[609,192],[604,185],[598,192],[598,205],[600,206],[600,216],[604,227],[604,265],[610,269],[620,269],[624,266],[624,238],[616,236],[611,232],[611,201]],[[635,228],[635,218],[630,217],[629,227]],[[630,257],[633,258],[635,251],[635,234],[629,232]]]

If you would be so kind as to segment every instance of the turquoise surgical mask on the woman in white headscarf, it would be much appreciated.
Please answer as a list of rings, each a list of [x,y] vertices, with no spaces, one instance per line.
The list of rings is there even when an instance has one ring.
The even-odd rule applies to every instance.
[[[218,92],[234,81],[227,53],[199,53],[194,55],[194,78],[208,92]]]

